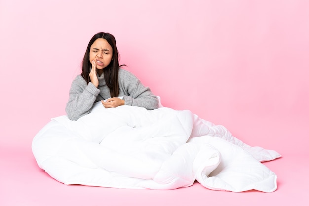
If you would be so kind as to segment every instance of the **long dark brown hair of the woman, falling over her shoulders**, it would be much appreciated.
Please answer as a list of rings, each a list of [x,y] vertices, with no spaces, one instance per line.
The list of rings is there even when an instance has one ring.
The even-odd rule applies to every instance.
[[[82,72],[81,76],[86,80],[87,84],[91,81],[90,80],[90,70],[91,70],[91,63],[89,60],[89,53],[91,45],[97,40],[98,38],[105,39],[113,49],[113,56],[110,64],[103,69],[104,79],[106,85],[110,89],[111,97],[118,97],[119,96],[119,81],[118,81],[118,73],[119,73],[119,53],[116,46],[115,37],[107,32],[99,32],[95,34],[89,44],[87,46],[87,50],[85,52],[84,58],[82,60]],[[121,65],[122,66],[122,65]]]

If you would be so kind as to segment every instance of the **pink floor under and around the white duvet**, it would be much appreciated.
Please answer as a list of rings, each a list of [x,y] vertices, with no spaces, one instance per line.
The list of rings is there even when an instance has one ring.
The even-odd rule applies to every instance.
[[[175,190],[134,190],[64,185],[38,167],[31,145],[0,145],[0,206],[308,206],[307,156],[282,156],[264,163],[278,176],[273,193],[212,191],[197,182]]]

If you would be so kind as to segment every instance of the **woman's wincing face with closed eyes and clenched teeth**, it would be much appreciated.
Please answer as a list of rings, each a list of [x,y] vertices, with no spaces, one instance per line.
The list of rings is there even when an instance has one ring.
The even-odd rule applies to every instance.
[[[113,49],[107,40],[98,38],[90,46],[89,60],[94,60],[97,69],[104,69],[108,66],[113,58]]]

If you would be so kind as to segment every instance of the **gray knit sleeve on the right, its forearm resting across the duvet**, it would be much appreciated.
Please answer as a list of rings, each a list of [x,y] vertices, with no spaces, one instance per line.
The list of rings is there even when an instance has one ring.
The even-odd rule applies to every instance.
[[[129,71],[120,69],[119,84],[122,84],[125,93],[124,104],[139,106],[152,110],[159,107],[159,100],[149,87],[144,86],[141,81]]]

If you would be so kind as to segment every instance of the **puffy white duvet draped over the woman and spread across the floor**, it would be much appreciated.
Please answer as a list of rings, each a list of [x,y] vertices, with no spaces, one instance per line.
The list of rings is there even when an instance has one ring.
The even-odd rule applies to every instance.
[[[67,185],[160,190],[197,180],[212,190],[273,192],[277,176],[261,162],[280,157],[188,110],[101,103],[77,121],[53,118],[32,150],[39,167]]]

